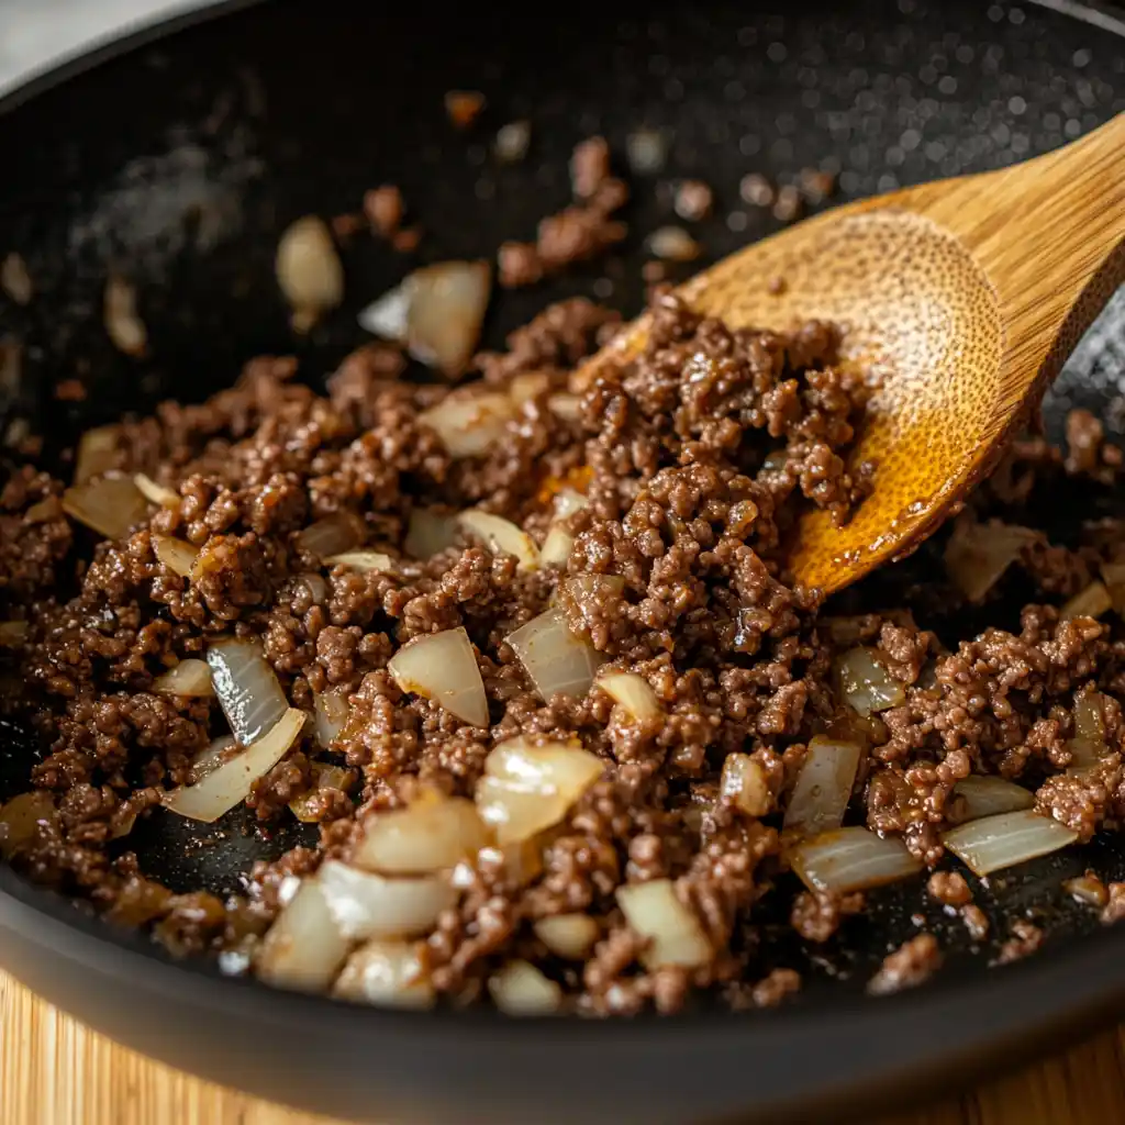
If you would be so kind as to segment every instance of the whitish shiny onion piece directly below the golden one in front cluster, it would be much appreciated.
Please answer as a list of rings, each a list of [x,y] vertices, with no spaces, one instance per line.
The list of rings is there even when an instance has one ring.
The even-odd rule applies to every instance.
[[[384,879],[335,860],[321,865],[317,879],[340,933],[356,942],[422,934],[457,901],[443,880]]]

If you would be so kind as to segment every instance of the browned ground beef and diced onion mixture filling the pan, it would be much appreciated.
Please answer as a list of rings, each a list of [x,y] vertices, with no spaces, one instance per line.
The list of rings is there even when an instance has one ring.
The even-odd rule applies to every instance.
[[[822,605],[786,532],[810,505],[846,521],[879,471],[846,467],[865,390],[831,325],[732,332],[659,291],[644,352],[584,386],[615,315],[573,299],[471,358],[448,325],[479,321],[487,273],[420,271],[364,314],[408,296],[403,345],[464,385],[407,381],[385,343],[324,395],[260,358],[89,431],[66,479],[14,469],[4,706],[43,750],[0,810],[8,862],[278,986],[605,1015],[778,1004],[801,978],[762,911],[822,943],[896,881],[980,939],[966,874],[1116,827],[1125,524],[1034,525],[1042,489],[1117,479],[1096,420],[1065,452],[1018,443]],[[295,324],[320,284],[290,285]],[[228,813],[315,846],[225,901],[130,850],[145,821]],[[1123,891],[1072,888],[1107,919]],[[1038,944],[1020,926],[1004,957]],[[921,933],[870,991],[940,958]]]

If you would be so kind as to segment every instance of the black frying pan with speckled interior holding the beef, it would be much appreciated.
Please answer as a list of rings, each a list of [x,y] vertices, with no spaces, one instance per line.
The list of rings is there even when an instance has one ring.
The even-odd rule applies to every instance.
[[[431,258],[489,254],[526,237],[567,197],[566,158],[603,132],[620,153],[645,125],[672,140],[665,177],[700,176],[720,206],[703,228],[719,256],[768,233],[739,179],[837,168],[853,197],[979,171],[1054,147],[1125,108],[1125,25],[1108,9],[1053,0],[864,0],[849,4],[652,3],[562,11],[440,6],[394,12],[346,0],[220,4],[42,79],[0,104],[0,251],[19,251],[39,297],[0,303],[0,336],[28,361],[0,403],[28,416],[46,451],[160,397],[198,399],[259,352],[295,346],[331,370],[359,342],[356,309],[394,284],[404,260],[366,240],[346,256],[349,303],[295,344],[274,289],[278,233],[310,210],[354,209],[363,189],[397,182]],[[207,18],[205,18],[207,17]],[[482,129],[451,134],[449,88],[483,90]],[[490,130],[530,117],[531,159],[497,169]],[[634,232],[668,201],[637,184]],[[734,213],[735,218],[728,218]],[[604,294],[640,302],[641,234],[609,263],[549,290],[506,295],[492,345],[546,300]],[[152,360],[118,356],[100,323],[108,271],[137,282]],[[82,404],[52,387],[82,364]],[[1056,386],[1048,410],[1109,410],[1125,370],[1125,303],[1115,302]],[[0,784],[26,780],[36,753],[17,730]],[[0,793],[2,795],[2,793]],[[145,867],[176,889],[228,890],[253,858],[295,843],[224,824],[156,817],[138,832]],[[858,1110],[948,1089],[1019,1052],[1120,1014],[1125,939],[1068,906],[1060,882],[1086,866],[1125,878],[1125,845],[1098,840],[978,889],[1004,937],[1030,914],[1047,947],[988,970],[963,927],[915,884],[872,897],[873,912],[816,956],[777,926],[778,957],[809,987],[789,1008],[739,1016],[514,1023],[489,1012],[382,1012],[224,980],[172,963],[71,903],[0,868],[0,962],[110,1035],[179,1066],[340,1116],[646,1125],[755,1120]],[[950,951],[916,992],[871,1001],[862,984],[921,911]],[[765,920],[768,927],[770,920]],[[767,933],[767,938],[770,934]]]

